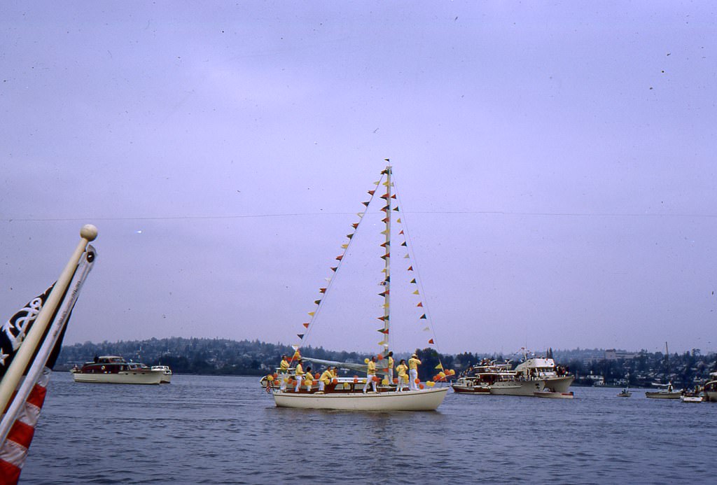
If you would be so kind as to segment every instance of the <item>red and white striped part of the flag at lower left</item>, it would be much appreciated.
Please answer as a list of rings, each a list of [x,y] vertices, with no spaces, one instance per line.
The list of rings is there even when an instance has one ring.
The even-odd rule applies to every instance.
[[[27,458],[27,448],[35,433],[35,425],[47,394],[50,373],[51,370],[44,368],[10,428],[5,442],[0,446],[0,485],[15,485],[20,478],[22,466]]]

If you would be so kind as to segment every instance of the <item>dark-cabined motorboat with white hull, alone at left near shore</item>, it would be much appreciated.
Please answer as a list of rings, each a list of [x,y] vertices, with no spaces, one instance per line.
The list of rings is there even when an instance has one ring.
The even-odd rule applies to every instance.
[[[103,355],[85,362],[82,368],[72,368],[76,383],[103,384],[159,384],[163,370],[153,370],[140,362],[127,362],[117,355]]]

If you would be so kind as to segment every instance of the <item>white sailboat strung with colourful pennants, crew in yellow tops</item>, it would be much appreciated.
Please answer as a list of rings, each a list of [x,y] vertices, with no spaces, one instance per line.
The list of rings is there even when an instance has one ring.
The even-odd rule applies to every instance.
[[[389,160],[386,159],[386,161]],[[384,303],[382,305],[383,315],[381,317],[378,317],[378,319],[383,322],[383,327],[378,330],[383,336],[383,340],[379,342],[381,350],[379,350],[379,354],[376,355],[376,377],[374,378],[375,380],[379,381],[379,385],[374,388],[374,392],[366,392],[366,387],[368,387],[366,383],[366,378],[359,378],[358,376],[355,376],[353,378],[338,377],[334,375],[330,383],[326,384],[325,386],[322,385],[321,390],[318,390],[313,386],[308,387],[306,385],[300,385],[298,387],[295,387],[293,385],[294,382],[290,380],[290,374],[288,375],[288,377],[286,374],[282,375],[281,373],[268,375],[265,376],[265,378],[262,378],[261,384],[266,388],[267,392],[270,392],[272,394],[277,407],[338,410],[428,411],[436,410],[445,398],[448,388],[435,386],[435,382],[432,381],[427,381],[427,383],[425,383],[426,385],[420,384],[420,387],[418,383],[416,383],[416,385],[413,385],[412,383],[412,385],[410,386],[410,388],[412,389],[404,389],[404,386],[402,385],[403,383],[399,383],[399,385],[394,385],[394,383],[389,382],[388,379],[381,378],[381,374],[388,375],[389,365],[387,357],[389,355],[390,348],[389,336],[391,335],[391,222],[394,219],[394,212],[399,211],[399,207],[394,207],[393,204],[394,200],[396,199],[396,194],[391,192],[392,188],[394,188],[394,183],[391,181],[391,176],[391,165],[387,165],[384,171],[381,172],[381,179],[375,183],[376,190],[369,191],[371,199],[368,202],[364,202],[364,212],[358,214],[360,218],[359,222],[353,224],[353,229],[355,231],[358,231],[359,226],[361,226],[361,221],[364,221],[364,215],[368,211],[371,201],[374,200],[374,195],[378,190],[379,184],[381,184],[381,181],[384,181],[385,179],[382,185],[386,188],[386,191],[385,193],[380,195],[380,198],[385,200],[385,202],[383,202],[384,207],[381,208],[381,211],[386,214],[383,219],[385,229],[384,231],[381,231],[381,234],[385,235],[385,242],[381,244],[381,247],[385,251],[385,253],[381,255],[381,258],[384,259],[385,264],[384,269],[382,270],[382,273],[384,274],[384,276],[382,277],[383,281],[379,283],[382,289],[381,293],[379,293],[379,296],[383,297]],[[397,217],[396,222],[401,224],[400,217]],[[346,255],[346,250],[348,249],[349,244],[351,244],[351,241],[353,241],[353,235],[356,234],[355,231],[347,235],[348,243],[342,246],[344,252],[343,254],[341,254],[341,256],[338,256],[336,258],[339,263],[337,264],[337,266],[331,268],[334,273],[333,278],[338,275],[338,269],[344,260],[343,256]],[[399,234],[404,235],[404,230],[402,229]],[[405,235],[404,241],[401,245],[407,246]],[[409,266],[409,270],[412,270],[412,266]],[[320,294],[322,296],[320,297],[320,299],[315,300],[314,302],[317,307],[314,312],[309,312],[311,320],[310,322],[303,324],[306,329],[305,334],[298,334],[298,337],[302,341],[305,340],[305,335],[308,334],[310,330],[312,330],[312,324],[315,320],[315,315],[317,314],[318,310],[322,308],[323,300],[326,299],[326,294],[328,292],[328,289],[331,287],[333,278],[329,279],[329,284],[327,285],[327,288],[320,289]],[[413,279],[412,283],[416,283],[416,279]],[[418,290],[416,290],[414,294],[419,294]],[[424,305],[422,302],[419,302],[417,306],[423,307]],[[420,318],[426,319],[426,314],[424,313]],[[423,322],[423,320],[421,321]],[[429,344],[433,344],[433,342],[433,339],[429,340]],[[312,357],[300,355],[300,345],[295,345],[293,347],[295,350],[295,354],[294,357],[292,357],[291,359],[290,365],[293,365],[294,361],[300,357],[301,360],[303,360],[304,362],[313,362],[315,365],[328,365],[330,368],[353,370],[357,373],[366,373],[366,370],[369,367],[368,359],[366,359],[366,365],[357,362],[333,362],[327,360],[319,360]],[[449,371],[449,373],[450,372],[452,371]],[[446,373],[442,372],[442,374],[445,375]],[[281,382],[282,379],[285,381],[289,380],[290,382]]]

